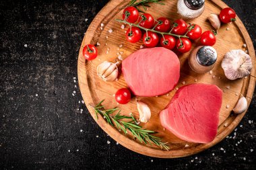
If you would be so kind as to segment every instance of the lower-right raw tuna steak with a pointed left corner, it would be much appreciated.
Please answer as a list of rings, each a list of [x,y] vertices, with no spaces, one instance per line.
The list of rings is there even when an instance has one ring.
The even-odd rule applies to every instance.
[[[185,85],[160,112],[160,121],[183,140],[211,142],[217,134],[221,105],[222,91],[216,85]]]

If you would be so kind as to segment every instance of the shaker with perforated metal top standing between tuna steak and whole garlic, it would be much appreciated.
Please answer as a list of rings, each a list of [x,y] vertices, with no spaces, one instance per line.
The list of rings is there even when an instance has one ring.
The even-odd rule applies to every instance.
[[[214,68],[217,52],[212,46],[198,46],[189,56],[189,67],[195,73],[207,73]]]

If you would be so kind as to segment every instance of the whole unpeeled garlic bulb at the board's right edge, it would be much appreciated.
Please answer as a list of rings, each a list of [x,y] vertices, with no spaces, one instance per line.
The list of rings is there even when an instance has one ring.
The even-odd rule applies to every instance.
[[[235,80],[250,75],[253,68],[251,57],[243,50],[230,50],[222,60],[222,69],[226,77]]]

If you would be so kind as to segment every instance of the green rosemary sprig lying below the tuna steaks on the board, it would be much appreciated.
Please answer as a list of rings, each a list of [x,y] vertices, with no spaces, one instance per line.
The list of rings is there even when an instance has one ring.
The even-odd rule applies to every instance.
[[[110,124],[111,126],[116,125],[117,129],[122,130],[125,134],[127,134],[128,131],[131,132],[131,134],[133,134],[133,138],[137,138],[139,142],[144,142],[145,144],[150,145],[155,144],[156,146],[159,146],[161,149],[164,148],[167,151],[170,149],[169,146],[167,145],[167,142],[162,142],[161,138],[153,135],[156,132],[152,130],[143,129],[141,128],[141,126],[137,125],[137,121],[135,120],[132,114],[130,116],[123,116],[121,115],[121,110],[119,110],[119,108],[105,110],[104,106],[102,105],[103,101],[104,100],[100,101],[100,103],[98,103],[94,107],[90,105],[92,106],[92,108],[94,108],[96,119],[98,119],[98,114],[100,114],[104,117],[104,119],[106,119],[106,122],[108,122],[108,124]],[[119,110],[119,112],[117,112],[117,114],[114,115],[114,112],[117,110]],[[128,119],[130,121],[125,122],[123,121],[123,119]]]

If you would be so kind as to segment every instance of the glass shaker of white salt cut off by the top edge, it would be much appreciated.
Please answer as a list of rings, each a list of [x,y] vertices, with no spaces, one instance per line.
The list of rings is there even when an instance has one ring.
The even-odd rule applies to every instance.
[[[178,13],[187,19],[199,17],[204,10],[205,0],[179,0],[177,3]]]

